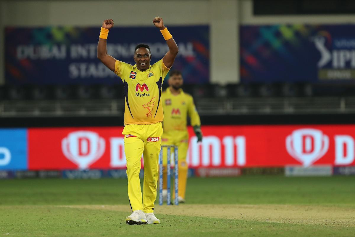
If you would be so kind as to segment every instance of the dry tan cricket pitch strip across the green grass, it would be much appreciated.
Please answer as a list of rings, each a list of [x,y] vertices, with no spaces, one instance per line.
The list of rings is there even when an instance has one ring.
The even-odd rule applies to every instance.
[[[65,208],[127,211],[129,205],[65,205]],[[238,204],[180,204],[155,205],[154,213],[177,216],[244,219],[263,222],[295,223],[302,225],[355,226],[355,206],[351,205],[238,205]]]

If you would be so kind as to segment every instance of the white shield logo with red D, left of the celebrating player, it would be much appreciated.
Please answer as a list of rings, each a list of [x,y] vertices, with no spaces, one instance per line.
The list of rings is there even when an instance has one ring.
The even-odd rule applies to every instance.
[[[105,151],[105,140],[92,131],[76,131],[62,139],[62,152],[80,169],[89,168]]]

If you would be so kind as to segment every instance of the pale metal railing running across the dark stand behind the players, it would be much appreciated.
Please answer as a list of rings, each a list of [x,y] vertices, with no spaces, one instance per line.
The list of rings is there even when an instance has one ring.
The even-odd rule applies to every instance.
[[[353,113],[355,97],[199,98],[200,115]],[[122,116],[123,99],[0,101],[0,117]]]

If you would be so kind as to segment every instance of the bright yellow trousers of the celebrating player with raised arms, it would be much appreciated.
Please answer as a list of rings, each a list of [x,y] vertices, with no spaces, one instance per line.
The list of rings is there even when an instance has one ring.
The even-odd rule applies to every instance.
[[[163,134],[162,123],[127,124],[122,134],[125,135],[128,197],[132,211],[154,212],[154,201],[157,198],[158,159]],[[143,199],[139,179],[142,153],[144,160]]]

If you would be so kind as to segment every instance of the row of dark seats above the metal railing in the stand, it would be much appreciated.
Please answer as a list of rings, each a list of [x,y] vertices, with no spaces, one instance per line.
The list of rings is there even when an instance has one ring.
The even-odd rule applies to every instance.
[[[168,85],[163,85],[163,90]],[[196,101],[200,98],[268,98],[268,97],[329,97],[353,96],[355,85],[328,84],[203,84],[184,85]],[[119,99],[123,97],[122,84],[66,85],[66,86],[0,86],[3,100],[65,100],[65,99]]]

